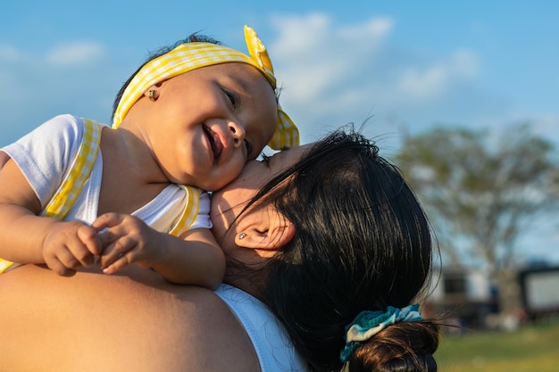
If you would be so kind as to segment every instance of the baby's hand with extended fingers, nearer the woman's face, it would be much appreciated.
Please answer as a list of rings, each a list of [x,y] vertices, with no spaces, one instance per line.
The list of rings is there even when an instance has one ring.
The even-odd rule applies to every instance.
[[[105,274],[113,274],[131,263],[149,269],[160,259],[161,233],[142,219],[129,214],[105,213],[91,225],[100,233],[104,247],[98,264]]]

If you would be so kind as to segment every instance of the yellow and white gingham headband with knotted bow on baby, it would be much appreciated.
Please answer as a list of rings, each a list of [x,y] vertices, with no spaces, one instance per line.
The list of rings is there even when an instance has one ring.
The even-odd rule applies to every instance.
[[[270,57],[263,42],[258,38],[254,29],[245,26],[245,40],[250,57],[227,46],[212,43],[181,44],[167,54],[163,54],[147,62],[130,81],[122,94],[121,101],[114,112],[113,128],[117,128],[130,107],[138,101],[149,87],[181,75],[190,70],[226,62],[243,62],[260,70],[276,88],[276,78],[273,75]],[[274,135],[268,145],[274,150],[299,145],[299,130],[283,112],[278,103],[278,123]]]

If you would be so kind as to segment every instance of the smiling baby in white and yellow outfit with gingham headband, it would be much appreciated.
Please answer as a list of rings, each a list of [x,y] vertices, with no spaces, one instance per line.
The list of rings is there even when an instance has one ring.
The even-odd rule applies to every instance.
[[[0,272],[45,263],[60,275],[136,263],[214,288],[225,259],[207,191],[265,145],[298,145],[266,48],[249,55],[193,35],[142,65],[117,95],[113,128],[71,115],[0,151]]]

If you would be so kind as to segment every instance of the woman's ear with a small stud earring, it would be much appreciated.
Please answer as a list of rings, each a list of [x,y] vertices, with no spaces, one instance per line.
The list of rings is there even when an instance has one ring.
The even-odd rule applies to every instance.
[[[242,232],[235,236],[235,244],[270,257],[293,239],[295,226],[277,211],[271,211],[272,208],[266,210],[260,213],[262,219],[255,219],[254,224],[244,226]]]

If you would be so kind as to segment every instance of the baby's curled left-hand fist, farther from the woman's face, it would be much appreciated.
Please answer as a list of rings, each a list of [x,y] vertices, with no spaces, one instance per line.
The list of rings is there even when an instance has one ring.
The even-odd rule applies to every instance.
[[[80,221],[54,224],[43,242],[46,266],[59,275],[72,275],[80,266],[91,266],[101,253],[96,230]]]

